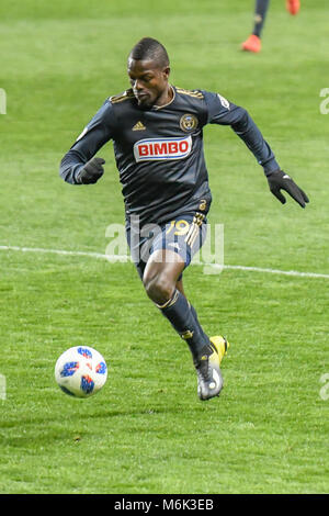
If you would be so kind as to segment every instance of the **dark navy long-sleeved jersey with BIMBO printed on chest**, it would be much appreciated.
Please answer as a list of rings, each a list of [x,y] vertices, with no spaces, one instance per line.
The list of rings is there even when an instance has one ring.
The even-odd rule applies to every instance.
[[[180,213],[207,213],[212,194],[203,152],[206,124],[230,125],[265,173],[279,169],[274,155],[248,112],[217,93],[172,87],[162,106],[138,106],[132,90],[110,97],[60,164],[60,176],[77,173],[113,141],[126,221],[164,223]]]

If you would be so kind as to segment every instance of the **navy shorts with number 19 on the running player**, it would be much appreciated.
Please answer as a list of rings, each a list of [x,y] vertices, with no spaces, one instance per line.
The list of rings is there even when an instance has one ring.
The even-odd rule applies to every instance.
[[[170,249],[184,260],[185,268],[206,238],[206,216],[194,212],[163,224],[147,224],[126,231],[132,259],[143,278],[149,257],[158,249]]]

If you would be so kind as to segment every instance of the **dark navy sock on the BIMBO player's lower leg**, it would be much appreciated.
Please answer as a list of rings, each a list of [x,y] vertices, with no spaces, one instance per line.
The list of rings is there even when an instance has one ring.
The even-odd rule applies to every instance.
[[[212,352],[209,337],[202,329],[194,307],[179,290],[159,309],[175,332],[186,340],[194,360],[207,351]]]

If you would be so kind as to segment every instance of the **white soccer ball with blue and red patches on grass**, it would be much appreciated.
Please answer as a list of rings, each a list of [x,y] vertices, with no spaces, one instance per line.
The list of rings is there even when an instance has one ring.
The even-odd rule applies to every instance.
[[[71,396],[89,397],[99,392],[107,379],[102,355],[88,346],[75,346],[58,358],[55,380]]]

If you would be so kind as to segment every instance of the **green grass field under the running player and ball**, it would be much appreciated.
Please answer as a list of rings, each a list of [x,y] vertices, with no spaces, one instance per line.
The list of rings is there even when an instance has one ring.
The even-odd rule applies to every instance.
[[[327,274],[188,269],[204,328],[231,341],[225,389],[201,403],[190,351],[132,263],[1,249],[1,493],[328,492],[328,5],[302,4],[293,18],[273,1],[263,51],[250,55],[239,44],[251,0],[1,1],[0,246],[105,253],[107,225],[124,218],[112,144],[97,186],[66,184],[58,165],[127,87],[127,54],[150,35],[168,48],[172,83],[247,108],[310,198],[306,210],[282,206],[230,128],[208,126],[209,222],[225,225],[225,263]],[[58,356],[80,344],[110,367],[89,400],[54,381]]]

